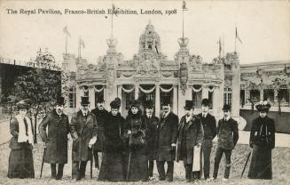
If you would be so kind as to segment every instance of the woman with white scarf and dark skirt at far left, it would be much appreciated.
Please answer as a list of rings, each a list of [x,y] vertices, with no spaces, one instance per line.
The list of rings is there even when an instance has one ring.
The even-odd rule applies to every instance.
[[[10,122],[12,141],[9,148],[8,177],[9,178],[35,178],[35,169],[32,156],[33,126],[27,117],[29,104],[27,100],[19,101],[17,107],[20,114],[13,117]]]

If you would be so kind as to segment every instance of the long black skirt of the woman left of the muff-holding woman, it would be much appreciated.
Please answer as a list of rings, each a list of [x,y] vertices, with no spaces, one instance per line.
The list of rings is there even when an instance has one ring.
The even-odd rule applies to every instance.
[[[104,151],[99,181],[125,181],[124,157],[119,151]]]

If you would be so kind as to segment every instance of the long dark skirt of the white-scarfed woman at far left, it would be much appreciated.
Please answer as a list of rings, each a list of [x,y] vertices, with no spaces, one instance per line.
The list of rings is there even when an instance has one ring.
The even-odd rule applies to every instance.
[[[35,178],[32,150],[27,148],[12,149],[9,155],[9,178]]]

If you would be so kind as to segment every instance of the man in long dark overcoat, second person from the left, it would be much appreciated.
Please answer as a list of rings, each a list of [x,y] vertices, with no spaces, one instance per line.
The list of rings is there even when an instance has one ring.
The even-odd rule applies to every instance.
[[[38,127],[46,147],[44,162],[51,164],[51,179],[56,180],[62,178],[64,165],[67,164],[67,134],[70,130],[68,117],[63,113],[64,105],[64,97],[59,97],[54,109],[43,118]]]

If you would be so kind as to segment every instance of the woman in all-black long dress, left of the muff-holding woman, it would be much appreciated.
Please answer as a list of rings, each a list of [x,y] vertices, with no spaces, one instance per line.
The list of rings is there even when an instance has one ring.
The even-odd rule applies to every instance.
[[[123,154],[125,119],[119,113],[120,104],[117,101],[112,101],[110,106],[111,112],[104,125],[105,147],[98,180],[124,181],[126,172]]]

